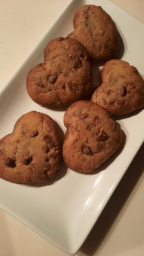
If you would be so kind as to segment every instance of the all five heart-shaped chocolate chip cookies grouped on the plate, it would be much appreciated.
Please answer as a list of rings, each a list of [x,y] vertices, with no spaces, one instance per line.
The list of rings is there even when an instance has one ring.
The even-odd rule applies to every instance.
[[[41,106],[71,105],[64,115],[63,160],[71,170],[87,173],[120,146],[122,131],[113,117],[144,106],[144,81],[135,67],[114,59],[121,47],[118,32],[100,6],[80,7],[73,24],[67,38],[48,43],[44,63],[29,71],[26,86]],[[99,61],[107,62],[94,91],[91,65]],[[57,124],[43,113],[23,115],[0,140],[0,178],[5,180],[46,181],[56,175],[60,159]]]

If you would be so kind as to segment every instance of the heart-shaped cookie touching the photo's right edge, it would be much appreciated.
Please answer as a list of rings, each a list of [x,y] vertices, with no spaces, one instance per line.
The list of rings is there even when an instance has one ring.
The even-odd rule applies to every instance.
[[[101,85],[91,101],[101,105],[112,116],[119,116],[144,106],[144,80],[128,62],[111,60],[100,72]]]

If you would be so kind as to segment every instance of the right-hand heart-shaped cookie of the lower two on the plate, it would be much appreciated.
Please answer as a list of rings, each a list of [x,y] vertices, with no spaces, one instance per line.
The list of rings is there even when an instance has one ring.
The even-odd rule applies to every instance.
[[[104,108],[90,101],[73,103],[64,115],[64,125],[63,160],[73,171],[94,171],[122,142],[118,124]]]

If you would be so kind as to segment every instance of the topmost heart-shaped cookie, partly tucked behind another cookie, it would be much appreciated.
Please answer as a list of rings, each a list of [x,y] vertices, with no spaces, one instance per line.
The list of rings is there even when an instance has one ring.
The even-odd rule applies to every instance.
[[[94,61],[108,61],[119,52],[115,23],[101,6],[84,5],[75,13],[74,31],[68,37],[79,40]]]

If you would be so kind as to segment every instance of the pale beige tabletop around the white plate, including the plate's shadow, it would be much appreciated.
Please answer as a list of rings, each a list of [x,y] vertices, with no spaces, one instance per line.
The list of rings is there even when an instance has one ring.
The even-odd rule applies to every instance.
[[[43,35],[68,0],[0,0],[0,86]],[[144,22],[144,0],[114,0]],[[77,256],[144,255],[144,145]],[[66,256],[0,210],[0,256]]]

